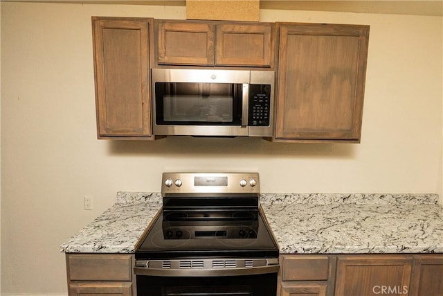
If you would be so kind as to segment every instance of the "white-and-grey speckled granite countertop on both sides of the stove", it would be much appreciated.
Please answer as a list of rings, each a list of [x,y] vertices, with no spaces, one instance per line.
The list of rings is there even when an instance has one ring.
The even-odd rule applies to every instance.
[[[271,194],[260,197],[280,253],[443,253],[438,195]],[[61,245],[62,252],[133,253],[161,208],[160,193],[117,202]]]

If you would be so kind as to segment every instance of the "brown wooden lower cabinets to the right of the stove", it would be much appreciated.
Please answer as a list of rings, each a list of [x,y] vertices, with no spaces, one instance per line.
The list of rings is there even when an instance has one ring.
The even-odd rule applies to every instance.
[[[279,296],[443,296],[443,254],[282,254],[279,279]]]

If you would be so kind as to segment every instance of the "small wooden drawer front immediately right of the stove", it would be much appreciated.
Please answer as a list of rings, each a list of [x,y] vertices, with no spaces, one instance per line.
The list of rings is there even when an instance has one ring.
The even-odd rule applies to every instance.
[[[282,258],[283,281],[327,281],[327,256],[285,255]]]

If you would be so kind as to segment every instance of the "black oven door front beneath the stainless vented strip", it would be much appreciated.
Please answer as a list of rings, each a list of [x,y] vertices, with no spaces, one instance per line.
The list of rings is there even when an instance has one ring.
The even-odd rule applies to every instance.
[[[226,277],[137,275],[136,281],[139,296],[272,296],[277,293],[277,272]]]

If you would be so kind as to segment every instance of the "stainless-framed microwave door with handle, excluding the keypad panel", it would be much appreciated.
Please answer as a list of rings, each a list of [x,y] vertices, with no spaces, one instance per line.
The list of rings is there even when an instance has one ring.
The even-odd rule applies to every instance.
[[[249,71],[152,69],[154,134],[247,135]]]

